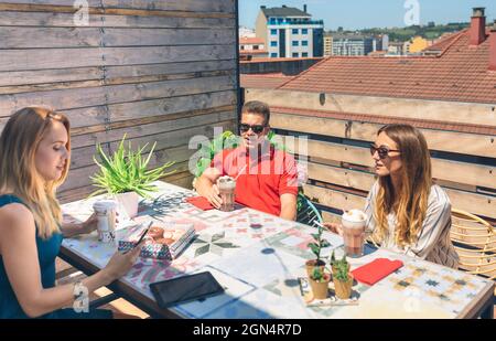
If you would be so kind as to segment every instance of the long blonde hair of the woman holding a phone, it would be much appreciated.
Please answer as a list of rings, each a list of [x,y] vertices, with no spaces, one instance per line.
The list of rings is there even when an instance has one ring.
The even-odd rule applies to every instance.
[[[67,151],[71,150],[69,121],[63,114],[41,107],[28,107],[14,113],[0,136],[0,191],[11,191],[31,210],[39,236],[48,238],[60,232],[62,212],[55,191],[68,172],[67,160],[60,179],[45,181],[35,167],[40,141],[60,121],[67,130]]]

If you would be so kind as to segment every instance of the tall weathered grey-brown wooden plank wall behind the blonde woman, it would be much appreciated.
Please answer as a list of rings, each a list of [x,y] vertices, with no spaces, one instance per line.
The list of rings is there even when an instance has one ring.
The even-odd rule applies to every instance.
[[[235,0],[75,2],[0,1],[0,129],[29,105],[68,115],[63,202],[94,190],[95,143],[111,151],[125,134],[157,141],[152,163],[176,161],[165,180],[191,187],[190,138],[236,124]]]

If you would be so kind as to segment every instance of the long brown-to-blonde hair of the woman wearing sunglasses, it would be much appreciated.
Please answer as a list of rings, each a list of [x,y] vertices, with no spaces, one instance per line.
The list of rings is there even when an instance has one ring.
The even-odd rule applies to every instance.
[[[384,241],[388,234],[387,215],[396,214],[395,243],[399,247],[417,242],[428,209],[432,187],[431,157],[423,135],[409,125],[388,125],[385,132],[398,146],[401,158],[400,189],[395,193],[391,177],[379,178],[374,219],[377,228],[373,239]]]

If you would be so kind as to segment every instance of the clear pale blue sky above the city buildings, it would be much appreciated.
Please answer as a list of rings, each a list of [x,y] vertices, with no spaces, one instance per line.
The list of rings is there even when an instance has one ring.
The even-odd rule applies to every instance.
[[[296,7],[313,19],[323,19],[325,30],[402,28],[407,23],[468,22],[472,8],[485,7],[487,22],[496,19],[495,0],[238,0],[239,24],[254,29],[260,6]]]

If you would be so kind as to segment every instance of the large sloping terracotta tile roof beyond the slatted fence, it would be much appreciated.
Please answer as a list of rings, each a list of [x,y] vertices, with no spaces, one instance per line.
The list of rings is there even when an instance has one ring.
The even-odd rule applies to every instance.
[[[440,51],[436,56],[326,57],[279,88],[496,103],[496,72],[488,70],[489,39],[471,46],[470,31],[464,30],[429,47],[434,49]]]

